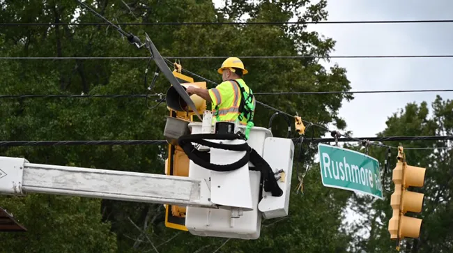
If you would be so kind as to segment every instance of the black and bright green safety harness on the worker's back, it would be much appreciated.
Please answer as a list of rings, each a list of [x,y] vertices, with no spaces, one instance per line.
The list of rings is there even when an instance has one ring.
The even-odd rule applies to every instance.
[[[247,93],[245,91],[244,86],[240,84],[240,82],[234,80],[234,79],[229,79],[228,81],[233,81],[239,86],[240,90],[240,103],[239,103],[239,116],[238,119],[239,121],[242,121],[243,118],[247,119],[247,126],[245,128],[245,139],[249,139],[249,133],[250,130],[253,128],[254,123],[253,123],[253,116],[254,116],[254,105],[253,105],[253,92],[252,89],[249,89],[250,93]],[[217,122],[220,121],[220,116],[219,116],[219,105],[215,106],[215,118],[217,119]]]

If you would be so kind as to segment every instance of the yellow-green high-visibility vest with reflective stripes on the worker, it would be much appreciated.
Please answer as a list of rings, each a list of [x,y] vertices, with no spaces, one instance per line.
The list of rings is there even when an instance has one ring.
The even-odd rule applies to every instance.
[[[240,86],[242,86],[247,93],[247,98],[248,94],[252,93],[252,90],[249,89],[249,86],[245,84],[243,79],[236,79],[235,81],[240,85],[236,84],[233,80],[227,80],[209,90],[210,98],[213,101],[213,123],[215,121],[234,122],[237,118],[240,119],[241,125],[247,125],[249,122],[245,116],[240,116],[239,107],[241,98],[243,98]],[[250,105],[253,105],[252,111],[254,112],[256,101],[253,96],[251,97],[252,102]],[[251,121],[252,120],[253,118],[251,118]]]

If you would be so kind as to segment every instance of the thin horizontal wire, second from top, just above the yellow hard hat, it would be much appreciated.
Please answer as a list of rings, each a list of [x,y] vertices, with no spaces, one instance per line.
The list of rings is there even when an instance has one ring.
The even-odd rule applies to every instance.
[[[229,56],[165,56],[164,59],[227,59]],[[316,56],[316,55],[290,55],[290,56],[235,56],[240,59],[371,59],[371,58],[452,58],[453,54],[428,54],[428,55],[339,55],[339,56]],[[145,56],[74,56],[74,57],[57,57],[57,56],[1,56],[0,60],[139,60],[149,59]]]

